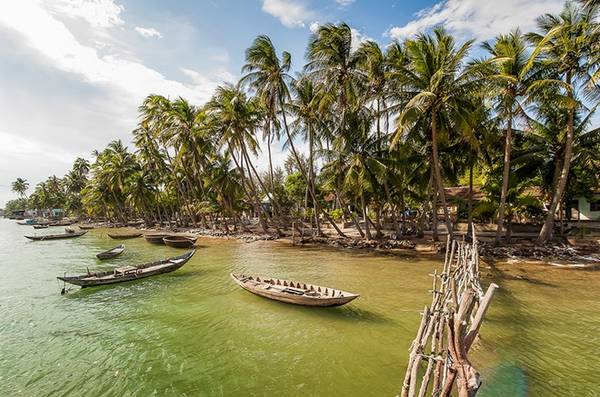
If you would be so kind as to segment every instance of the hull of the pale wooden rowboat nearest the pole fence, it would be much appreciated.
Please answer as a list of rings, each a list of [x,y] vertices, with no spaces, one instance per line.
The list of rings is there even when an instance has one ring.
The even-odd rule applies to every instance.
[[[273,299],[279,302],[291,303],[294,305],[301,306],[318,306],[318,307],[334,307],[334,306],[342,306],[348,302],[353,301],[358,298],[360,295],[353,294],[351,292],[340,291],[330,289],[328,287],[321,287],[313,285],[313,290],[320,291],[333,291],[334,294],[337,292],[341,294],[341,296],[305,296],[305,295],[292,295],[289,293],[282,292],[278,288],[284,288],[283,285],[270,285],[269,283],[257,283],[255,280],[247,280],[244,281],[243,276],[231,273],[231,278],[238,284],[240,287],[245,289],[248,292],[251,292],[255,295],[262,296],[264,298]],[[277,280],[282,284],[285,282],[286,284],[290,284],[287,280]],[[293,282],[292,282],[293,284]],[[306,284],[304,284],[306,285]],[[287,286],[286,286],[287,287]]]

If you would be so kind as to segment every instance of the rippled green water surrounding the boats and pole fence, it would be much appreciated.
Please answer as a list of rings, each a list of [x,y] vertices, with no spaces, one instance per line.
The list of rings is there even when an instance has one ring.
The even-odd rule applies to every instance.
[[[55,231],[61,229],[56,228]],[[48,233],[51,229],[39,232]],[[29,242],[0,220],[0,396],[394,396],[439,261],[201,239],[177,272],[61,296],[56,276],[182,251],[103,230]],[[339,308],[254,296],[229,272],[358,292]],[[529,279],[507,277],[528,274]],[[486,273],[502,289],[472,359],[481,396],[600,395],[600,274],[540,265]]]

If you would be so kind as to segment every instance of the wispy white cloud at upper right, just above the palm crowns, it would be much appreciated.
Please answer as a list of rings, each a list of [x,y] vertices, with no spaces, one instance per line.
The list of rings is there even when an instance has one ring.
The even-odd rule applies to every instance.
[[[447,0],[421,10],[416,19],[389,29],[387,34],[401,40],[443,25],[462,38],[488,40],[516,27],[534,29],[539,15],[559,12],[562,5],[563,0]]]

